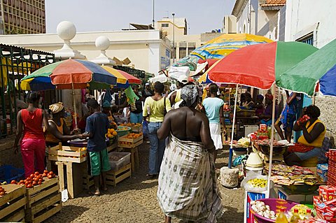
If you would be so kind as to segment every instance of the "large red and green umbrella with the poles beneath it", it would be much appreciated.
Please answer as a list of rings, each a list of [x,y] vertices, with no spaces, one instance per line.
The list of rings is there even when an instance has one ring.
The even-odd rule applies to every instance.
[[[232,52],[214,64],[206,73],[209,79],[214,82],[227,84],[246,85],[259,89],[269,89],[273,86],[272,92],[275,95],[275,81],[281,73],[301,62],[304,58],[316,52],[317,48],[312,45],[300,42],[274,42],[258,45],[250,45]],[[237,93],[235,98],[237,104]],[[235,127],[236,106],[232,128]],[[274,116],[275,100],[273,100],[272,112],[272,134],[269,152],[269,178],[272,173],[272,154],[274,138]],[[232,164],[232,141],[233,129],[230,143],[229,168]],[[267,186],[269,192],[269,184]]]

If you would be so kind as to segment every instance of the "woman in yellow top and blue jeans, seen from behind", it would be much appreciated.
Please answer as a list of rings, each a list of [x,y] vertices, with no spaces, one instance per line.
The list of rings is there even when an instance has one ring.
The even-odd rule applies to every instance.
[[[155,82],[154,96],[146,98],[143,110],[144,119],[148,121],[149,170],[148,177],[154,178],[160,171],[163,154],[165,153],[165,139],[159,140],[157,131],[160,129],[165,112],[171,110],[170,101],[162,96],[165,85]]]

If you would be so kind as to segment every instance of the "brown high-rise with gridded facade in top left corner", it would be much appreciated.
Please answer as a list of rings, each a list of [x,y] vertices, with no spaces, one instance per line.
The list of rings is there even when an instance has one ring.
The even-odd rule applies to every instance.
[[[45,33],[44,0],[2,0],[0,6],[0,34]]]

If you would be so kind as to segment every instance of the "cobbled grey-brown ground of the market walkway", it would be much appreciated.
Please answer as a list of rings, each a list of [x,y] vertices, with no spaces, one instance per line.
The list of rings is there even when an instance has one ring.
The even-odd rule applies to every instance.
[[[109,187],[102,196],[88,196],[83,192],[78,198],[63,203],[62,213],[47,222],[164,222],[164,215],[158,205],[156,192],[158,180],[147,180],[148,148],[144,143],[139,149],[140,168],[131,179]],[[216,167],[228,165],[228,151],[218,154]],[[244,216],[244,189],[226,189],[219,185],[223,196],[225,213],[218,222],[239,223]],[[173,220],[172,222],[181,222]]]

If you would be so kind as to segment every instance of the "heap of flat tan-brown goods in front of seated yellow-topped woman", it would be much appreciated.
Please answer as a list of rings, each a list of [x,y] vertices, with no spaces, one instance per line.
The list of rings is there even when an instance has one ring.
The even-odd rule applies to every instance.
[[[265,166],[268,171],[268,164]],[[278,185],[315,185],[318,180],[312,171],[301,166],[272,165],[271,180]]]

